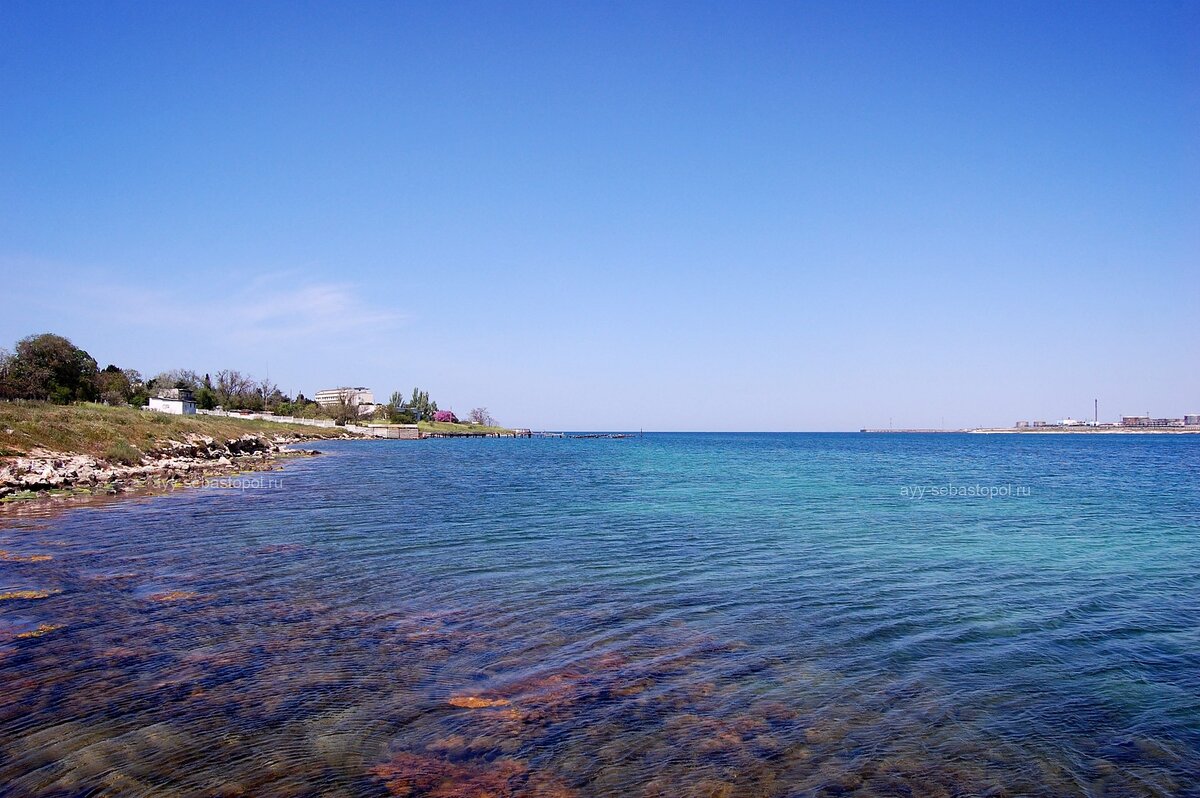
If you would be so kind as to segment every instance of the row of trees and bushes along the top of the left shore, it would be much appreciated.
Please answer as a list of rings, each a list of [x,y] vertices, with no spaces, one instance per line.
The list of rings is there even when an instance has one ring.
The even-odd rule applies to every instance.
[[[215,374],[175,368],[149,379],[137,368],[121,368],[113,364],[100,368],[96,359],[86,350],[50,332],[26,336],[11,352],[0,348],[0,400],[32,400],[56,404],[103,402],[142,407],[151,396],[170,388],[191,390],[196,406],[205,410],[220,407],[276,415],[328,416],[340,424],[362,418],[362,408],[350,402],[343,401],[323,408],[304,394],[289,397],[269,379],[257,379],[232,368]],[[398,391],[392,394],[391,401],[373,408],[372,415],[395,424],[415,424],[434,420],[439,416],[439,410],[428,391],[414,388],[407,400]],[[473,409],[468,419],[474,424],[496,424],[487,408]]]

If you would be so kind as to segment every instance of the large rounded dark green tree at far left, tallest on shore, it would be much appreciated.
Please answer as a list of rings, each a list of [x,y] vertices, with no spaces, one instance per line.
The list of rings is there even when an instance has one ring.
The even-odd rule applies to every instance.
[[[96,359],[61,335],[43,332],[17,342],[4,362],[4,395],[59,404],[100,397]]]

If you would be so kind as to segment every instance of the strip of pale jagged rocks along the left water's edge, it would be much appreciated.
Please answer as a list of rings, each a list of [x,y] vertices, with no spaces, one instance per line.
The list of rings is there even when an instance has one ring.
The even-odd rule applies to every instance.
[[[274,470],[283,457],[319,452],[289,446],[310,438],[244,434],[224,440],[188,434],[164,440],[139,462],[116,463],[91,455],[34,450],[0,461],[0,502],[49,496],[109,494],[199,485],[251,470]]]

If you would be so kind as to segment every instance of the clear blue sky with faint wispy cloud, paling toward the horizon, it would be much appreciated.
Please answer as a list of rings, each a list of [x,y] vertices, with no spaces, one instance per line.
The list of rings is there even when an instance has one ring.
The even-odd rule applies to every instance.
[[[522,426],[1200,413],[1200,4],[7,0],[0,286]]]

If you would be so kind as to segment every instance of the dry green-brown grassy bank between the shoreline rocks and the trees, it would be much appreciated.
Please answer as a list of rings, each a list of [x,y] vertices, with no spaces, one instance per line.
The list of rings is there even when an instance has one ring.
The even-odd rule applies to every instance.
[[[166,415],[104,404],[44,404],[0,402],[0,457],[34,449],[91,455],[113,462],[136,460],[139,452],[186,434],[217,439],[247,433],[337,438],[343,431],[300,424],[275,424],[211,415]]]

